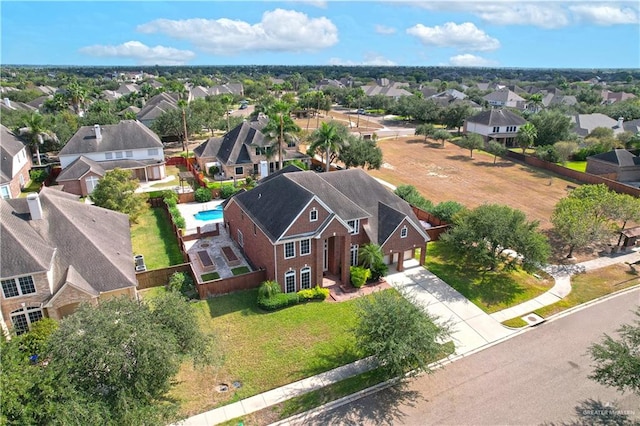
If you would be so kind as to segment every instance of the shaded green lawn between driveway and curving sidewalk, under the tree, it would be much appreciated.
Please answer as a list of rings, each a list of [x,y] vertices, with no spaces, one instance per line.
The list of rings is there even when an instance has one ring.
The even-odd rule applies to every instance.
[[[521,270],[483,272],[459,259],[442,242],[427,245],[427,269],[487,313],[533,299],[553,287],[553,280],[541,271],[542,279]]]

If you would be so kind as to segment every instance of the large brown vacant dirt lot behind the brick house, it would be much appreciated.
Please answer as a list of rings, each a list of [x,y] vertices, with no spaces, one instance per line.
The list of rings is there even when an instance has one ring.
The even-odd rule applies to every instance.
[[[372,176],[393,185],[410,184],[434,203],[453,200],[467,207],[496,203],[522,210],[529,220],[538,220],[543,229],[551,228],[555,204],[576,184],[560,177],[512,161],[493,164],[493,156],[448,143],[425,143],[422,137],[383,139],[384,155],[380,170]]]

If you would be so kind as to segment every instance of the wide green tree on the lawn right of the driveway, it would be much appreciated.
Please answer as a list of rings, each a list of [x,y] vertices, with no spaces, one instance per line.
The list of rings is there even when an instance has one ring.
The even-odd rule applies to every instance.
[[[522,266],[532,270],[544,264],[551,248],[523,212],[508,206],[484,204],[453,216],[453,226],[441,239],[453,247],[463,261],[495,270]]]

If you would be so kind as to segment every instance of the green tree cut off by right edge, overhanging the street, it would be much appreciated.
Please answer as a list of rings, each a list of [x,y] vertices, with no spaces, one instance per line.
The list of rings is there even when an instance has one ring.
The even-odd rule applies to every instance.
[[[600,343],[589,348],[594,362],[590,379],[620,392],[640,395],[640,307],[636,320],[618,329],[618,339],[604,335]]]

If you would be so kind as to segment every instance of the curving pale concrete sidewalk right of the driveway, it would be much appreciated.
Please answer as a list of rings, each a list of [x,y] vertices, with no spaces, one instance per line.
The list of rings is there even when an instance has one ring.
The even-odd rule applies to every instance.
[[[581,272],[593,271],[594,269],[605,268],[617,263],[638,262],[640,261],[640,253],[638,250],[639,249],[633,249],[630,253],[602,256],[597,259],[573,265],[549,265],[544,268],[544,270],[555,279],[555,284],[550,290],[519,305],[503,309],[499,312],[494,312],[491,314],[491,317],[498,322],[502,322],[511,318],[524,316],[537,309],[552,305],[571,293],[572,275]]]

